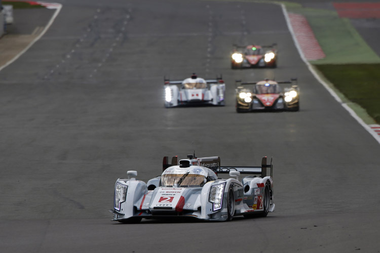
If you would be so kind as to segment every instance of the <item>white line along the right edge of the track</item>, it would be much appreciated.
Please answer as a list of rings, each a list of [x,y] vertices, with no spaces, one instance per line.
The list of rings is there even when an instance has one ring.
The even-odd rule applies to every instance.
[[[292,38],[293,38],[293,41],[294,41],[294,44],[295,44],[295,47],[297,48],[298,50],[298,53],[302,59],[303,62],[305,62],[305,64],[308,66],[310,72],[312,72],[312,74],[314,75],[314,77],[323,85],[323,87],[326,88],[326,90],[331,94],[331,96],[339,103],[341,104],[341,106],[343,106],[343,108],[345,108],[353,118],[356,119],[356,121],[359,122],[359,124],[361,124],[363,126],[363,128],[365,130],[367,130],[367,132],[380,144],[380,136],[377,135],[377,133],[375,133],[371,127],[369,125],[367,125],[366,123],[364,123],[364,121],[354,112],[353,109],[351,109],[346,103],[343,103],[343,101],[341,101],[341,99],[336,95],[336,93],[327,85],[327,83],[322,80],[322,78],[317,74],[317,72],[314,70],[313,66],[306,60],[305,58],[305,55],[303,55],[302,53],[302,50],[301,50],[301,47],[299,46],[298,44],[298,41],[295,37],[295,34],[294,34],[294,30],[291,26],[291,23],[290,23],[290,20],[289,20],[289,15],[288,15],[288,12],[286,10],[286,7],[284,4],[281,4],[281,7],[282,7],[282,12],[284,14],[284,17],[285,17],[285,20],[286,20],[286,24],[288,26],[288,29],[290,31],[290,34],[292,35]]]

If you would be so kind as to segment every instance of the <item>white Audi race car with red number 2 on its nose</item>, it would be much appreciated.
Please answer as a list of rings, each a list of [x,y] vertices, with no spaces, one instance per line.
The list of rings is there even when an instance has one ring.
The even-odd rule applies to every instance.
[[[220,179],[218,174],[229,174]],[[247,176],[239,179],[244,174]],[[136,180],[136,171],[115,184],[113,221],[136,223],[142,218],[193,217],[230,221],[236,216],[266,217],[274,212],[273,165],[267,157],[261,166],[220,166],[220,158],[188,155],[177,165],[177,156],[164,157],[163,173],[147,183]]]

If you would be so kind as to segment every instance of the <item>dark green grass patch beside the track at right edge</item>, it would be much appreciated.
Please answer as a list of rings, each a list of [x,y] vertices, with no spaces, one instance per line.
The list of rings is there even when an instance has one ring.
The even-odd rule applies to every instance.
[[[380,64],[315,65],[350,101],[380,123]]]

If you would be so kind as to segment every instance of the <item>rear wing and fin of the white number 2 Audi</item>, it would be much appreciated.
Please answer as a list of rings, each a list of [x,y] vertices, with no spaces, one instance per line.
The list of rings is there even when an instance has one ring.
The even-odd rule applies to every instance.
[[[220,166],[219,156],[210,157],[194,157],[193,155],[187,155],[187,158],[191,160],[192,165],[198,165],[210,168],[216,174],[230,174],[230,171],[237,171],[240,174],[249,175],[260,175],[262,178],[270,176],[273,178],[273,158],[271,158],[271,163],[267,164],[267,156],[262,157],[261,166]],[[171,163],[169,163],[169,157],[164,156],[163,160],[163,171],[168,167],[178,165],[178,156],[173,156]],[[269,170],[268,170],[269,169]]]

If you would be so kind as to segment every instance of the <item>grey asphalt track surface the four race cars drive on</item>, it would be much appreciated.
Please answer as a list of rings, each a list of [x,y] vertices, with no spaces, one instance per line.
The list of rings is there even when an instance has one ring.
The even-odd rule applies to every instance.
[[[380,146],[301,61],[280,6],[65,1],[0,72],[1,252],[378,252]],[[268,18],[271,13],[272,18]],[[230,69],[233,43],[278,43],[277,69]],[[207,65],[209,63],[209,65]],[[164,108],[163,78],[222,73],[225,107]],[[299,112],[235,112],[234,80],[298,78]],[[274,158],[276,212],[110,222],[113,185],[165,155]]]

